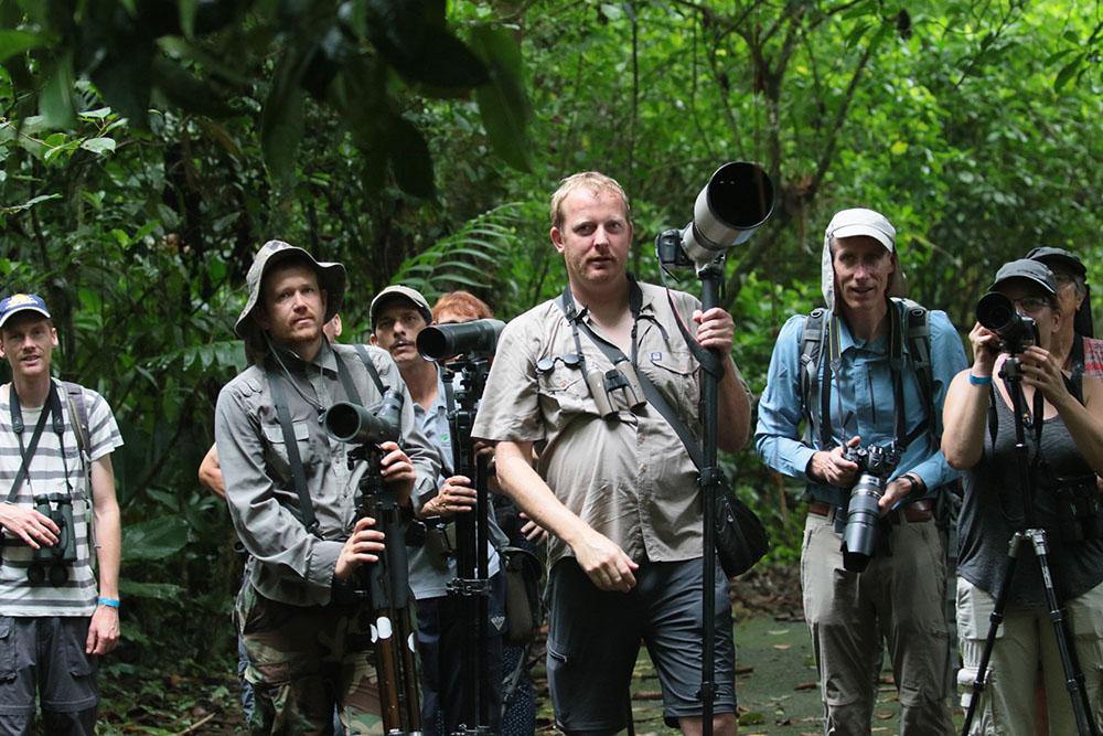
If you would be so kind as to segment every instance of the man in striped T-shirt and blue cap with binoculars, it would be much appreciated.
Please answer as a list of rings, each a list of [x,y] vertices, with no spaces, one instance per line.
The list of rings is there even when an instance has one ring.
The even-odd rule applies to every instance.
[[[56,346],[40,297],[0,301],[0,734],[30,734],[36,702],[45,733],[95,734],[97,661],[119,638],[122,437],[103,396],[51,376]]]

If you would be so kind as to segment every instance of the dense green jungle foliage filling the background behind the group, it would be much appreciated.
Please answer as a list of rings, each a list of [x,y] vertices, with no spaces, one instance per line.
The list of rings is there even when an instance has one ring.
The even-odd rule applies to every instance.
[[[61,374],[127,442],[110,666],[228,666],[240,561],[195,468],[245,364],[232,326],[261,243],[344,263],[350,326],[397,281],[507,318],[563,287],[564,175],[624,184],[654,281],[655,235],[719,164],[756,160],[777,206],[721,299],[758,394],[780,326],[820,303],[838,209],[888,215],[912,296],[962,328],[1034,245],[1103,278],[1101,23],[1074,6],[0,0],[0,292],[46,298]],[[725,462],[794,563],[799,483],[752,447]]]

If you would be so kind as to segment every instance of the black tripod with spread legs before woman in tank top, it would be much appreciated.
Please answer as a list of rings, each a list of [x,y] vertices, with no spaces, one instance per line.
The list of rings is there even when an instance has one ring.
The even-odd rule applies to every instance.
[[[968,710],[965,712],[962,736],[968,736],[973,717],[976,715],[976,707],[981,702],[981,695],[986,685],[986,671],[988,669],[988,660],[992,658],[992,649],[996,643],[996,632],[1004,620],[1004,607],[1011,587],[1016,563],[1022,551],[1024,542],[1028,540],[1034,546],[1035,559],[1038,561],[1038,565],[1041,568],[1046,601],[1049,606],[1049,617],[1053,622],[1053,634],[1057,637],[1057,648],[1061,654],[1061,666],[1064,671],[1064,686],[1069,691],[1069,697],[1072,700],[1072,712],[1077,718],[1077,733],[1080,736],[1099,736],[1099,729],[1092,717],[1092,710],[1088,700],[1088,691],[1084,687],[1084,673],[1080,669],[1075,650],[1070,642],[1068,615],[1053,586],[1053,576],[1049,567],[1049,540],[1046,536],[1045,530],[1034,527],[1028,523],[1034,508],[1034,489],[1031,487],[1030,463],[1027,458],[1026,430],[1022,419],[1025,402],[1022,398],[1022,373],[1019,359],[1013,355],[1005,360],[1003,367],[999,370],[999,377],[1005,380],[1008,391],[1011,394],[1011,408],[1015,413],[1015,457],[1018,465],[1019,478],[1022,479],[1022,527],[1015,532],[1009,543],[1007,568],[1004,572],[1004,579],[1000,582],[999,590],[996,594],[996,604],[992,610],[988,634],[984,642],[984,650],[981,653],[981,662],[977,665],[976,680],[973,681],[973,693],[970,698]],[[1040,392],[1036,390],[1035,396],[1040,398]],[[1042,419],[1041,402],[1036,401],[1034,422],[1039,433],[1041,431]],[[1040,451],[1040,448],[1037,449]]]

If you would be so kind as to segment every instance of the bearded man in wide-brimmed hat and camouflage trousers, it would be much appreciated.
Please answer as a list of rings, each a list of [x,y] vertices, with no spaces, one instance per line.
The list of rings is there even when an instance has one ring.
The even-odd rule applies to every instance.
[[[432,487],[437,454],[390,356],[367,348],[362,359],[324,339],[322,326],[344,298],[341,264],[269,241],[246,281],[235,331],[255,364],[218,395],[215,440],[231,518],[249,553],[235,606],[256,698],[249,732],[325,733],[336,705],[349,733],[367,733],[381,713],[372,617],[350,587],[361,565],[378,559],[383,534],[356,515],[367,460],[350,462],[353,446],[331,439],[321,419],[338,402],[371,410],[382,386],[400,391],[404,449],[381,445],[381,474],[403,503]]]

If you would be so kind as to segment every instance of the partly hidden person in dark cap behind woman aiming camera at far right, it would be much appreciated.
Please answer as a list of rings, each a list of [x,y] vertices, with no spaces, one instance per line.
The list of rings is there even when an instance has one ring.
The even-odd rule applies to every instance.
[[[1075,254],[1064,248],[1032,248],[1027,258],[1049,266],[1057,279],[1061,333],[1053,341],[1052,352],[1058,358],[1063,356],[1061,366],[1072,372],[1074,381],[1083,373],[1103,377],[1103,340],[1094,337],[1088,268]]]

